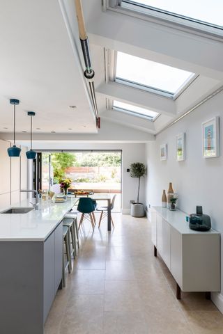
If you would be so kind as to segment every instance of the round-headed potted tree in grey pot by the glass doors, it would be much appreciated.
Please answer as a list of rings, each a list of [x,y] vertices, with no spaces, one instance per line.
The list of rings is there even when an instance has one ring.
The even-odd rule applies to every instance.
[[[130,176],[137,177],[139,179],[137,202],[131,203],[131,216],[132,217],[144,217],[145,210],[144,204],[139,203],[139,190],[140,190],[140,180],[141,177],[146,175],[146,166],[141,162],[134,162],[130,165]]]

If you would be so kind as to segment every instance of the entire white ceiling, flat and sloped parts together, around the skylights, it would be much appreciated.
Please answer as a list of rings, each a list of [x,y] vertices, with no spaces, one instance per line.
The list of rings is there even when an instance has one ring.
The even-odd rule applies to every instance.
[[[20,143],[29,142],[28,134],[22,133],[29,131],[26,111],[36,111],[33,120],[36,147],[44,141],[65,146],[75,141],[111,142],[112,136],[114,142],[125,141],[125,134],[127,141],[145,142],[153,140],[149,134],[159,132],[222,86],[222,40],[112,10],[103,12],[101,1],[82,0],[102,124],[102,129],[97,130],[83,76],[74,3],[74,0],[7,0],[1,4],[1,138],[12,138],[13,107],[8,101],[12,97],[21,100],[17,107]],[[176,101],[112,81],[106,83],[104,49],[160,61],[194,72],[198,78]],[[108,99],[151,109],[161,116],[150,122],[124,115],[107,108]],[[70,109],[70,105],[77,108]],[[56,134],[51,134],[52,131]]]

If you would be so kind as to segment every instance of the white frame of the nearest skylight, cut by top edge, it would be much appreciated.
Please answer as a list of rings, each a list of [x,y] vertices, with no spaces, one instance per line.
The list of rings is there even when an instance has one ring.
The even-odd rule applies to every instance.
[[[190,19],[189,17],[167,12],[159,8],[151,9],[145,5],[140,6],[137,3],[133,3],[134,1],[121,6],[121,0],[102,0],[102,8],[104,10],[115,10],[119,13],[125,13],[126,15],[138,17],[139,19],[144,19],[155,24],[170,26],[174,29],[177,28],[181,31],[197,33],[197,35],[204,35],[205,37],[212,37],[217,40],[222,40],[223,38],[223,27],[221,26],[202,22],[198,19]]]

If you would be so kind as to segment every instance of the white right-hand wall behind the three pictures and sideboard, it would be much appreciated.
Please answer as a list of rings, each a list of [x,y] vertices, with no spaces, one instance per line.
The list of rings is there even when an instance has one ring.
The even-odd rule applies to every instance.
[[[173,182],[174,191],[179,196],[180,209],[190,214],[196,211],[196,205],[202,205],[203,212],[211,217],[213,228],[221,233],[223,232],[222,105],[223,93],[220,93],[157,135],[155,142],[146,144],[148,166],[146,204],[161,205],[162,189],[167,190],[169,182]],[[220,157],[204,159],[201,123],[213,116],[220,116]],[[180,132],[186,134],[185,161],[176,161],[176,135]],[[162,143],[168,145],[167,161],[160,161],[159,149]],[[212,298],[223,312],[223,270],[222,294],[213,294]]]

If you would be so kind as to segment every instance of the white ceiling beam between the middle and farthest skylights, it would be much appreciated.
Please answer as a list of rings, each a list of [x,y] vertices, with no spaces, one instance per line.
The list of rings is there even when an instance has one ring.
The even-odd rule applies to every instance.
[[[109,81],[108,84],[101,84],[96,88],[96,93],[112,100],[141,106],[142,108],[150,109],[157,113],[164,113],[171,116],[176,115],[175,103],[168,97],[117,84],[116,82]]]

